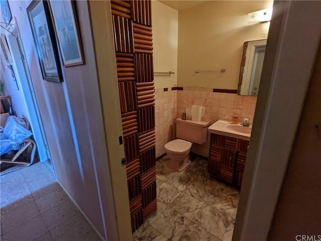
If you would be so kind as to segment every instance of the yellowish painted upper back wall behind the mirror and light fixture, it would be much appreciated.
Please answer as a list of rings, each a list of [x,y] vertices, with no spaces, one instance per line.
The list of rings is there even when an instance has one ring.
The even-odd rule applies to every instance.
[[[273,1],[209,1],[179,12],[178,86],[237,89],[245,41],[266,39],[269,23],[247,24],[247,14]],[[225,73],[194,73],[218,70]]]

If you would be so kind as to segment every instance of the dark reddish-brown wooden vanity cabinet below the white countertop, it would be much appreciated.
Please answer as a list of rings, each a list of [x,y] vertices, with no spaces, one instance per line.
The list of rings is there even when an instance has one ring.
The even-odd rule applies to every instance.
[[[249,142],[211,134],[208,172],[213,177],[241,186]]]

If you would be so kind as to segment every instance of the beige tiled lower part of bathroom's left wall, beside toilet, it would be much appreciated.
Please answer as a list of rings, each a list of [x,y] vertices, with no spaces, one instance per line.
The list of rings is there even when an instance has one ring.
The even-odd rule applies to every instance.
[[[174,139],[177,90],[155,90],[156,157],[166,151],[164,145]]]

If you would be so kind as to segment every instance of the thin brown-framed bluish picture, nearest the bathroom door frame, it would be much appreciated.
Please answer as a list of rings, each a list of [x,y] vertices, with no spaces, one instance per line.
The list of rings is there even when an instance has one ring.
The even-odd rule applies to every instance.
[[[50,1],[64,67],[84,64],[75,1]]]

